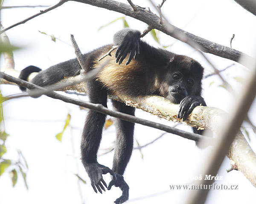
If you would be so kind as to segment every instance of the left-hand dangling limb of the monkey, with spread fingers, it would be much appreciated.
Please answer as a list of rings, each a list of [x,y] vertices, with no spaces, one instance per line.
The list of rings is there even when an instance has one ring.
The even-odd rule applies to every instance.
[[[102,104],[107,107],[107,91],[98,82],[90,81],[87,83],[90,102]],[[89,110],[81,139],[81,156],[84,168],[90,177],[93,190],[97,193],[105,191],[107,184],[103,180],[102,174],[110,173],[113,179],[115,173],[108,167],[97,162],[97,152],[102,139],[102,128],[105,124],[106,115]],[[104,186],[103,186],[104,185]]]

